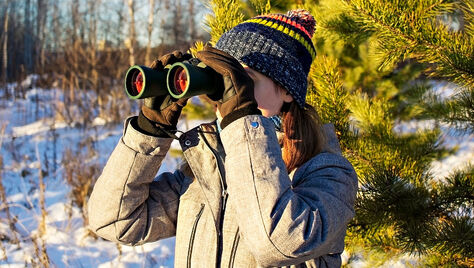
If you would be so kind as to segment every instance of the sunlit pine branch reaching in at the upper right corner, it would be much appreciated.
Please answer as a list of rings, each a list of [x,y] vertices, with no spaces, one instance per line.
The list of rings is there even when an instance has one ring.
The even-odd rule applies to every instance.
[[[353,16],[366,24],[365,30],[377,33],[384,57],[381,68],[413,57],[420,62],[436,62],[429,70],[432,76],[443,77],[467,87],[474,85],[473,38],[463,32],[450,33],[446,26],[436,21],[436,15],[454,9],[452,3],[438,1],[424,11],[429,14],[424,14],[416,8],[419,9],[425,2],[401,9],[390,6],[387,1],[373,4],[357,0],[343,1],[353,7]],[[394,9],[395,15],[398,12],[399,16],[392,15]]]

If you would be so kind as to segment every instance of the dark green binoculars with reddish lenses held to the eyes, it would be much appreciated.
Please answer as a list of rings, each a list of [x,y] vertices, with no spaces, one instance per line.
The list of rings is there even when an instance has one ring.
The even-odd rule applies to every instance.
[[[223,90],[222,76],[196,58],[166,65],[162,71],[134,65],[125,75],[125,91],[134,100],[167,94],[189,98]]]

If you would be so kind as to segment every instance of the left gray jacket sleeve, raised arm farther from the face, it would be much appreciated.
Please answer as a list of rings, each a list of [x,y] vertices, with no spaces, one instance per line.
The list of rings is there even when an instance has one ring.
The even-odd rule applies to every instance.
[[[135,124],[136,117],[126,121],[88,201],[91,230],[129,245],[175,235],[185,179],[180,171],[154,179],[172,139],[142,134]]]

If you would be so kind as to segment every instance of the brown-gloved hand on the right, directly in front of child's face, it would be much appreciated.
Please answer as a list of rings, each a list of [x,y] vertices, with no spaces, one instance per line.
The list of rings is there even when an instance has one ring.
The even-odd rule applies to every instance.
[[[257,108],[254,83],[242,65],[228,53],[206,46],[197,53],[197,58],[222,75],[224,92],[216,102],[223,119],[224,129],[233,121],[250,114],[262,114]]]

